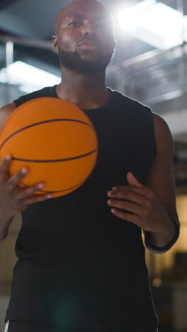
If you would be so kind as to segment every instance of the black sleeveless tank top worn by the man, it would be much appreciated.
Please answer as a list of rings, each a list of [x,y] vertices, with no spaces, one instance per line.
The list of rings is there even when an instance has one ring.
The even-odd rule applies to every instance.
[[[114,216],[107,204],[108,190],[128,185],[128,172],[145,184],[157,153],[153,114],[108,90],[106,106],[83,110],[98,135],[94,172],[76,191],[31,204],[22,213],[5,322],[155,331],[142,230]],[[57,98],[55,87],[14,102],[19,106],[42,96]]]

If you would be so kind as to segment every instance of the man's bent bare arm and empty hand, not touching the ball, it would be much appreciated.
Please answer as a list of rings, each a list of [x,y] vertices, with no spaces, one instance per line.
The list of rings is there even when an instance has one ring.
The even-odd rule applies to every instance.
[[[146,183],[142,184],[128,172],[129,185],[113,187],[108,192],[112,198],[108,205],[115,208],[111,209],[115,216],[142,228],[149,251],[165,253],[178,239],[180,229],[172,169],[174,144],[164,118],[153,115],[157,155]]]

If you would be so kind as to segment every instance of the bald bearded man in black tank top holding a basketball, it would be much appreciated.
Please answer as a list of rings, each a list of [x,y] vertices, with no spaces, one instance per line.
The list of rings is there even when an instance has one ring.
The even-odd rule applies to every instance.
[[[64,197],[35,197],[0,169],[0,239],[22,213],[6,312],[8,332],[156,332],[145,245],[164,253],[179,237],[172,161],[164,119],[106,88],[115,48],[113,19],[96,0],[75,0],[57,15],[55,51],[62,82],[1,109],[1,123],[24,102],[53,96],[77,104],[94,123],[94,172]],[[43,184],[43,187],[45,184]]]

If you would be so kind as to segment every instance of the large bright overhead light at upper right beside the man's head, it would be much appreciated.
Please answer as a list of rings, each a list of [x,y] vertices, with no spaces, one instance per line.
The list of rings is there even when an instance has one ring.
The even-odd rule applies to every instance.
[[[155,0],[141,1],[130,9],[120,11],[121,28],[135,37],[162,50],[183,41],[183,15]]]

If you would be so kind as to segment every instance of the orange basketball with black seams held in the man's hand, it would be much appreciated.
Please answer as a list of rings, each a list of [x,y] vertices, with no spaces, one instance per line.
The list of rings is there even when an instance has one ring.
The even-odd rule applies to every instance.
[[[69,101],[38,98],[16,108],[0,133],[1,162],[12,157],[10,177],[28,168],[19,186],[45,182],[35,194],[60,197],[81,187],[93,172],[98,138],[84,111]]]

